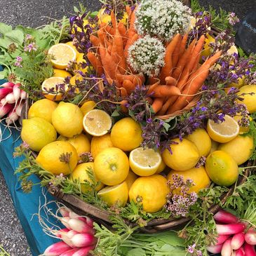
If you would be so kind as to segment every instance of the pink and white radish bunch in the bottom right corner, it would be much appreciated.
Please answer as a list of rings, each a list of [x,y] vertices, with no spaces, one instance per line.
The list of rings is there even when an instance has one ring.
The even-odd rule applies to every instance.
[[[256,230],[248,228],[246,222],[238,217],[220,210],[213,216],[217,228],[217,243],[208,246],[208,252],[220,253],[222,256],[256,256]]]

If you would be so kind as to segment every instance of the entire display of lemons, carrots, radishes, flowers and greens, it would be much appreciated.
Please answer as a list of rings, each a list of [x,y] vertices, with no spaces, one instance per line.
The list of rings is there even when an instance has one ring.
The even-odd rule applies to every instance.
[[[80,7],[39,29],[0,24],[1,140],[20,129],[22,189],[36,174],[112,223],[61,206],[65,229],[40,222],[62,239],[43,255],[256,255],[256,59],[234,44],[234,13]],[[167,228],[143,234],[152,222]]]

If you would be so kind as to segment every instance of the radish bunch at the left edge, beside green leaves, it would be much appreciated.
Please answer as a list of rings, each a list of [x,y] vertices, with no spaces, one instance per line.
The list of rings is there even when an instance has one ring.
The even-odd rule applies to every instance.
[[[6,82],[0,86],[0,121],[7,126],[17,121],[21,115],[27,93],[20,89],[20,83]],[[2,119],[4,116],[6,118]]]

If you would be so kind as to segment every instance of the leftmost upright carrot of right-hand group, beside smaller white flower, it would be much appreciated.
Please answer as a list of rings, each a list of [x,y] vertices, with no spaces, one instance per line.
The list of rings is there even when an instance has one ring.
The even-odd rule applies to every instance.
[[[165,65],[161,69],[160,73],[160,80],[161,83],[165,83],[166,76],[171,76],[173,72],[173,51],[175,50],[175,47],[177,46],[178,41],[180,41],[180,34],[176,34],[172,41],[168,44],[166,48],[166,55],[164,57],[164,63]]]

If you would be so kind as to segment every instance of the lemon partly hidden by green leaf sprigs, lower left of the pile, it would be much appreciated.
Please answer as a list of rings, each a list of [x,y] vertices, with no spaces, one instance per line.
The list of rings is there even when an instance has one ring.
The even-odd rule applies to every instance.
[[[90,176],[88,172],[92,172],[92,174],[95,176],[94,173],[94,163],[81,163],[74,168],[72,175],[70,175],[70,180],[79,180],[81,183],[81,191],[83,193],[86,193],[86,191],[90,191],[91,187],[90,184],[93,184],[93,180],[90,179]],[[94,177],[94,182],[98,182],[97,177]],[[88,183],[87,183],[88,182]],[[102,189],[104,185],[102,183],[98,184],[95,187],[96,191],[99,191]]]

